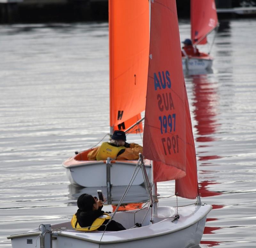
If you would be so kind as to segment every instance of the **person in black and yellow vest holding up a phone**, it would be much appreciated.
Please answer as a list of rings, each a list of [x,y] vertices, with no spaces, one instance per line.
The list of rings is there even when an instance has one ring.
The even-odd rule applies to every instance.
[[[77,212],[73,215],[71,225],[80,231],[121,231],[126,230],[122,224],[110,220],[110,215],[102,211],[103,202],[96,196],[81,194],[77,199]],[[108,223],[109,222],[109,223]]]

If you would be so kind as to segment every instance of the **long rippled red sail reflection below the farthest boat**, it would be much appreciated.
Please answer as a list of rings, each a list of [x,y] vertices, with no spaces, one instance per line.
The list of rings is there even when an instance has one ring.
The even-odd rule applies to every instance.
[[[200,144],[199,147],[210,149],[209,142],[216,140],[214,133],[218,130],[220,124],[217,123],[217,109],[218,109],[218,97],[217,97],[217,84],[215,82],[208,81],[208,75],[199,74],[191,75],[193,79],[193,94],[194,102],[193,106],[195,107],[193,113],[194,118],[197,121],[195,128],[197,129],[198,136],[196,137],[197,142],[204,142],[205,144]],[[220,158],[218,155],[202,156],[204,152],[199,153],[199,161],[209,161],[212,159]],[[208,162],[209,163],[209,162]],[[202,164],[201,164],[202,165]],[[206,164],[204,164],[206,165]],[[211,171],[200,171],[201,176],[204,176],[205,179],[199,182],[199,192],[202,197],[213,197],[221,195],[222,192],[212,191],[209,189],[211,185],[220,184],[216,180],[208,180],[209,176],[207,174]],[[212,205],[213,209],[223,208],[223,205]],[[207,222],[216,221],[218,218],[207,218]],[[206,226],[204,227],[204,234],[212,234],[215,230],[219,230],[220,227]],[[221,242],[204,240],[200,244],[206,244],[208,247],[216,246]]]

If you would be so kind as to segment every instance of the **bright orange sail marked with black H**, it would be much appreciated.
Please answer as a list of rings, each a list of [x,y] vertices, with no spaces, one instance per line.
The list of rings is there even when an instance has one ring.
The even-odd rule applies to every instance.
[[[110,127],[114,130],[129,128],[145,110],[148,51],[148,0],[110,0]],[[142,125],[139,128],[142,131]]]

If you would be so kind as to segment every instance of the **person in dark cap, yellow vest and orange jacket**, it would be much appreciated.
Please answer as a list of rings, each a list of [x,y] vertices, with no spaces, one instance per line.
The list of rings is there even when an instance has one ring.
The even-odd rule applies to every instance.
[[[136,143],[127,143],[124,131],[115,131],[110,142],[103,142],[101,146],[94,148],[87,155],[88,160],[106,160],[108,157],[116,160],[139,159],[142,146]]]

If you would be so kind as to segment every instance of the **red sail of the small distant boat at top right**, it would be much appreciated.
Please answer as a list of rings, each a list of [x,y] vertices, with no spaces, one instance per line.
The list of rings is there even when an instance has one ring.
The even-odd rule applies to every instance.
[[[191,40],[193,44],[206,44],[206,35],[218,25],[214,0],[190,1]]]

